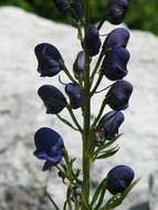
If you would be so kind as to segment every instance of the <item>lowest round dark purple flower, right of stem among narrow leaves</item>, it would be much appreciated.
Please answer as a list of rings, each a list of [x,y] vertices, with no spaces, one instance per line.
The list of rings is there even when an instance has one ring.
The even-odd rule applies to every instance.
[[[135,175],[128,166],[116,166],[107,174],[107,189],[112,195],[123,193],[131,183]]]

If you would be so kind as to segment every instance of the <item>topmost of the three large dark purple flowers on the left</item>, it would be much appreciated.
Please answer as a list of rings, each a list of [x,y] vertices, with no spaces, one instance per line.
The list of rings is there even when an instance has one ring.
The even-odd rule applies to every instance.
[[[38,44],[34,49],[38,59],[38,72],[41,76],[54,76],[61,70],[62,55],[59,50],[49,43]]]

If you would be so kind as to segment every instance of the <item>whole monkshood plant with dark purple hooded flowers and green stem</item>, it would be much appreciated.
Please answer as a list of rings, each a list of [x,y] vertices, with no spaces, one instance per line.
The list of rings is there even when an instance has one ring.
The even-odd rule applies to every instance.
[[[97,188],[91,191],[91,167],[99,159],[114,156],[119,147],[118,132],[124,122],[123,111],[128,107],[133,85],[125,81],[129,52],[126,49],[129,32],[124,28],[117,28],[108,33],[102,44],[101,28],[105,21],[112,24],[123,22],[128,0],[109,0],[105,17],[97,27],[91,24],[88,1],[54,0],[54,4],[64,15],[69,13],[73,25],[77,30],[81,42],[78,52],[70,71],[59,50],[50,43],[41,43],[35,46],[38,59],[38,72],[41,76],[56,76],[64,72],[69,83],[64,84],[60,76],[59,82],[64,85],[65,95],[53,85],[43,85],[38,94],[44,103],[48,114],[55,115],[62,123],[81,134],[83,143],[82,168],[75,168],[75,158],[71,158],[62,136],[49,127],[40,128],[34,135],[36,158],[44,160],[43,170],[57,169],[57,175],[67,188],[63,210],[110,210],[122,204],[128,192],[138,182],[134,180],[134,171],[129,166],[115,166]],[[98,60],[93,69],[92,60],[95,55]],[[112,81],[112,84],[98,91],[103,77]],[[91,101],[95,94],[105,92],[101,108],[96,117],[92,117]],[[105,106],[112,108],[104,113]],[[61,113],[67,109],[72,122],[64,118]],[[75,111],[81,109],[83,125],[77,120]],[[109,198],[105,199],[105,193]],[[49,196],[49,195],[48,195]],[[49,196],[54,208],[60,210],[57,203]]]

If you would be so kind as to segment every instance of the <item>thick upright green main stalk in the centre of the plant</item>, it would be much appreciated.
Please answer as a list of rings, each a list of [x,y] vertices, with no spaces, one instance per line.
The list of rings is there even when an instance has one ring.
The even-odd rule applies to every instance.
[[[88,25],[88,1],[85,0],[85,30]],[[84,129],[83,129],[83,189],[82,189],[82,210],[86,210],[86,203],[89,199],[89,148],[91,148],[91,80],[89,80],[89,56],[85,54],[85,71],[84,71]]]

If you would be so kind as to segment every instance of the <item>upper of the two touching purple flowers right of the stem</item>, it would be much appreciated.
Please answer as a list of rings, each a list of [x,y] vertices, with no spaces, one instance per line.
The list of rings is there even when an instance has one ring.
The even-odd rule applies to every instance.
[[[129,40],[129,32],[124,28],[118,28],[113,30],[103,44],[103,49],[105,51],[114,49],[114,48],[126,48]]]

